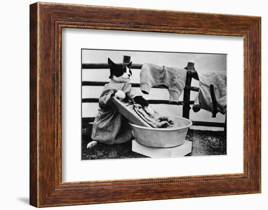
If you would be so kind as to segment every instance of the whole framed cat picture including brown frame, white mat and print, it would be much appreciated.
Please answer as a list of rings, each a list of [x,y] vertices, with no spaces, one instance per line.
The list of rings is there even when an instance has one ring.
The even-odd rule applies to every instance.
[[[260,193],[260,33],[260,17],[31,4],[30,204]]]

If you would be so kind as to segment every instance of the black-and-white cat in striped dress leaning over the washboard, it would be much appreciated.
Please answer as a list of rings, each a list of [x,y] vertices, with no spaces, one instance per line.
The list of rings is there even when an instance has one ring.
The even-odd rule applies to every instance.
[[[128,64],[116,64],[108,57],[111,79],[99,97],[98,114],[93,123],[92,139],[87,144],[87,148],[93,148],[98,142],[104,144],[118,144],[132,140],[133,134],[128,120],[116,112],[111,105],[111,97],[116,97],[120,101],[132,100],[140,104],[146,112],[153,114],[153,108],[148,101],[132,89],[130,80],[132,76],[132,62]]]

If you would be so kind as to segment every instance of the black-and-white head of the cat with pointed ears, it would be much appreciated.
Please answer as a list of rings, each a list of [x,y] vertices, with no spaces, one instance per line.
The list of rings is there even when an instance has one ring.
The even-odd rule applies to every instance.
[[[114,79],[117,82],[129,82],[132,76],[131,64],[116,64],[108,57],[108,65],[110,68],[110,79]]]

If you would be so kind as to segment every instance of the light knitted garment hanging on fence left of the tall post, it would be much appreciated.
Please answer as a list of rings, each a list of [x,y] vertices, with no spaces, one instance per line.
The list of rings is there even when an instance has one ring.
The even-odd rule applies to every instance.
[[[185,87],[186,74],[186,69],[145,63],[140,71],[140,89],[149,94],[152,87],[165,87],[169,90],[170,102],[178,102]]]

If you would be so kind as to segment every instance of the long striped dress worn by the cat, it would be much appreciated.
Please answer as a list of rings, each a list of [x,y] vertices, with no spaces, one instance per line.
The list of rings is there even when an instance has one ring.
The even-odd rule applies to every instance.
[[[120,144],[132,140],[133,134],[129,121],[111,106],[111,95],[118,90],[123,91],[126,97],[133,99],[136,93],[129,82],[117,82],[111,79],[104,86],[99,97],[98,114],[94,120],[92,139],[104,144]]]

